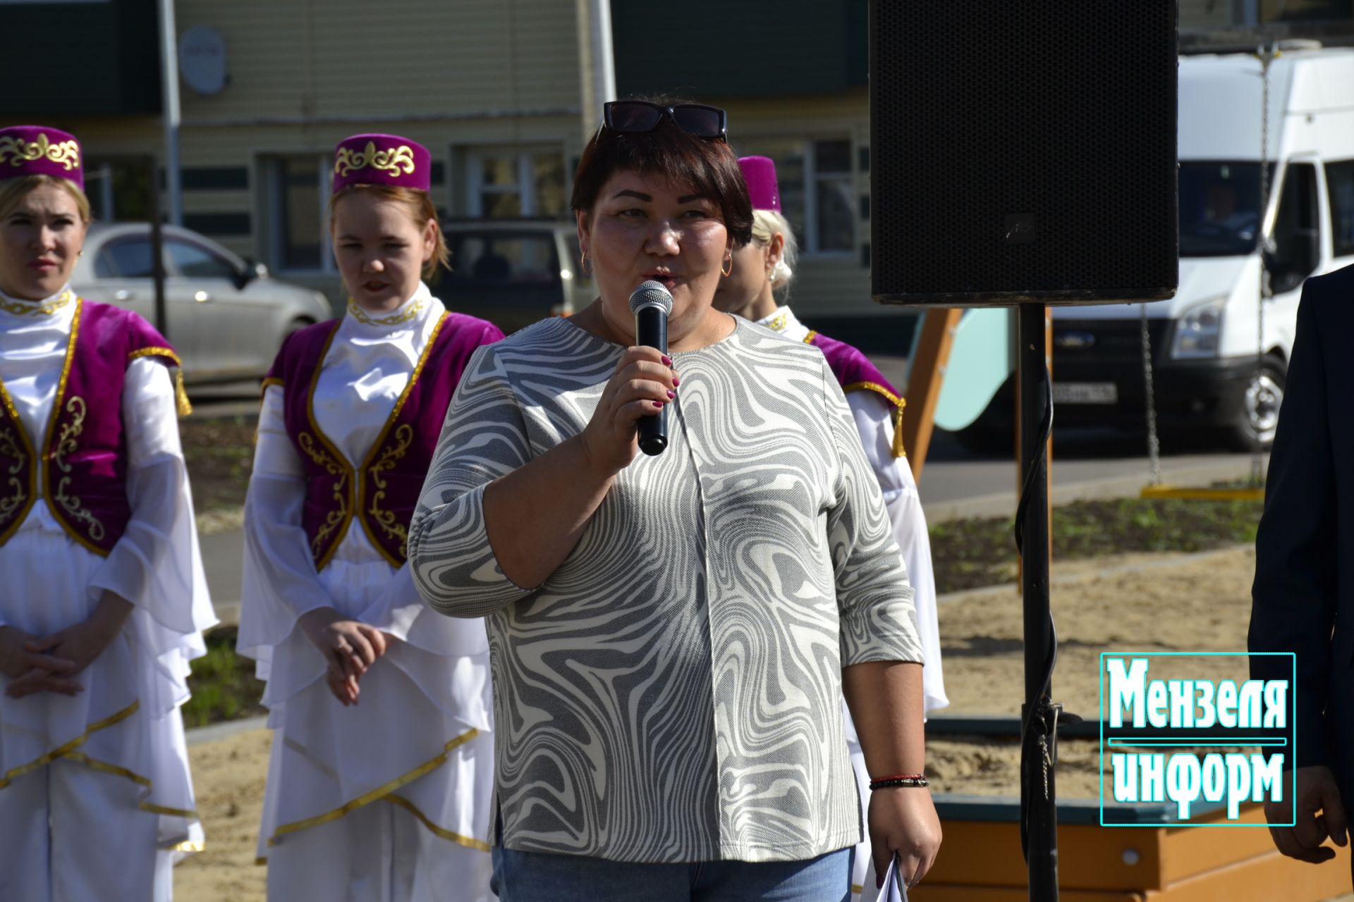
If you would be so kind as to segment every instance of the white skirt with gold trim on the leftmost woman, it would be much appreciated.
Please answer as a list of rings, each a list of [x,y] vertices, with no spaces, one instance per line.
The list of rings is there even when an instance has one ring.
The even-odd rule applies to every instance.
[[[102,563],[64,533],[20,530],[0,545],[0,622],[50,636],[88,619],[97,606],[89,583]],[[87,848],[93,836],[119,837],[127,841],[123,855],[106,860],[106,870],[116,872],[84,874],[83,882],[106,888],[154,868],[154,898],[169,898],[173,861],[203,845],[179,713],[188,696],[188,660],[202,650],[199,636],[172,633],[138,607],[76,678],[84,687],[79,695],[15,699],[4,695],[8,679],[0,676],[0,822],[45,826],[51,849]],[[76,797],[84,802],[79,818],[34,807]],[[133,848],[133,837],[145,837],[150,848]],[[87,856],[81,867],[97,870],[99,860]],[[50,874],[37,872],[51,871],[56,861],[0,845],[0,872],[27,887],[46,882],[60,888]]]

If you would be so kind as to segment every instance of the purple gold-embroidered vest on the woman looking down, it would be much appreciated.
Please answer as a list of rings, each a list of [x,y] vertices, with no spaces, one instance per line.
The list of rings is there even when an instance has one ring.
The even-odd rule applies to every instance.
[[[341,322],[334,319],[292,333],[278,352],[264,387],[282,385],[287,434],[305,467],[306,503],[301,519],[315,569],[329,564],[355,519],[386,560],[399,567],[408,557],[409,521],[460,375],[477,348],[504,335],[482,319],[445,314],[385,429],[353,469],[320,431],[313,404],[320,365]]]

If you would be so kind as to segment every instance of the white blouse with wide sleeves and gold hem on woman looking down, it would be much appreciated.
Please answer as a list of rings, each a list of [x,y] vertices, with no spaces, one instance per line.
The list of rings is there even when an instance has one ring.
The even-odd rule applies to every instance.
[[[379,438],[444,312],[427,285],[389,314],[349,306],[321,362],[311,404],[315,425],[351,467]],[[436,377],[428,371],[420,376]],[[257,661],[256,672],[268,683],[264,705],[278,730],[259,855],[284,849],[288,833],[318,825],[353,799],[389,794],[443,838],[474,849],[487,875],[493,742],[483,623],[428,611],[409,568],[391,567],[363,529],[348,529],[317,572],[302,526],[305,467],[287,434],[284,399],[283,385],[264,391],[245,500],[238,650]],[[362,678],[355,707],[330,695],[325,659],[297,627],[317,607],[399,640]],[[437,760],[452,749],[450,763]],[[475,753],[481,765],[473,764]],[[425,776],[391,786],[435,760]]]

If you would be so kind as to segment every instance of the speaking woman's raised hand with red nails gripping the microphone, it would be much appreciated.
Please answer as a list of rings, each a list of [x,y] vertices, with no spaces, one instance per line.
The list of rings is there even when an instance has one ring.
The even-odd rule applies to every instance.
[[[582,442],[593,467],[615,476],[639,454],[638,423],[655,417],[677,396],[680,380],[672,360],[654,348],[627,348],[584,429]]]

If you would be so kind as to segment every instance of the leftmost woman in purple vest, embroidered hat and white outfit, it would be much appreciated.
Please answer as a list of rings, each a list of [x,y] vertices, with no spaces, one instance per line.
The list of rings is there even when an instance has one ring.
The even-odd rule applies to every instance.
[[[179,357],[69,288],[81,157],[0,128],[0,898],[162,901],[203,844],[179,706],[215,618]]]

